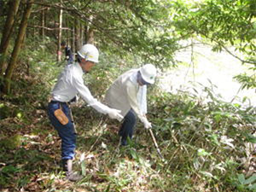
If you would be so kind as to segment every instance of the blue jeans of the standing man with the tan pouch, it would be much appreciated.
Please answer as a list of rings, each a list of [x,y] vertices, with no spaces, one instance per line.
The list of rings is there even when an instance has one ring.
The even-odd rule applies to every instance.
[[[58,119],[55,117],[55,110],[62,108],[62,111],[67,115],[68,123],[67,125],[62,125]],[[73,160],[76,148],[76,138],[77,133],[74,130],[73,122],[70,116],[70,109],[65,102],[49,102],[48,104],[48,115],[51,124],[58,131],[61,137],[61,159],[62,160]]]

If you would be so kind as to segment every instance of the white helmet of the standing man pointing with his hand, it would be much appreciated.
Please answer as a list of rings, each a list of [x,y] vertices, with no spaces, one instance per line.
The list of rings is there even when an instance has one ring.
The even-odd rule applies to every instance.
[[[86,61],[99,61],[99,51],[93,44],[84,44],[83,47],[79,49],[78,54]]]

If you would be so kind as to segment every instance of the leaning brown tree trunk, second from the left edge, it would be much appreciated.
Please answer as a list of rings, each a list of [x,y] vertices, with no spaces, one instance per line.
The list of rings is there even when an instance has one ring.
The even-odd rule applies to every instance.
[[[25,33],[26,33],[27,20],[32,12],[32,3],[33,3],[33,0],[29,0],[26,5],[26,9],[25,9],[25,12],[23,14],[23,17],[22,17],[22,20],[20,23],[20,31],[19,31],[18,37],[16,38],[16,41],[15,41],[15,48],[12,52],[11,59],[9,61],[9,65],[6,69],[6,74],[4,75],[3,93],[5,93],[5,94],[9,94],[12,75],[13,75],[15,65],[16,65],[16,62],[18,59],[18,55],[20,53],[20,47],[21,47],[22,41],[23,41],[23,39],[25,37]]]

